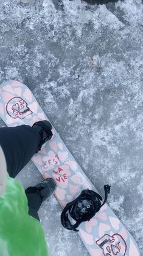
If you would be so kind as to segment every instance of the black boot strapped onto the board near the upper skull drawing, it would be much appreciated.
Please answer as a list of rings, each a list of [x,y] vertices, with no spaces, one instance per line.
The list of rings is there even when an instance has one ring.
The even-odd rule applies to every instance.
[[[39,131],[41,141],[40,141],[40,145],[38,146],[38,151],[40,151],[41,146],[43,146],[43,144],[47,140],[51,140],[51,138],[52,138],[52,135],[53,135],[52,131],[51,131],[52,130],[52,125],[47,120],[44,120],[44,121],[35,122],[32,127],[36,127]]]

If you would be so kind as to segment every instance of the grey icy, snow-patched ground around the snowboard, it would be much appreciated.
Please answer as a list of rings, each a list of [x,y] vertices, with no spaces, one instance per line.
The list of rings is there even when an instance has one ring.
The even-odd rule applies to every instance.
[[[108,203],[143,255],[142,1],[23,2],[0,1],[1,83],[29,86],[100,194],[111,184]],[[18,179],[41,176],[30,162]],[[39,214],[50,256],[89,255],[54,197]]]

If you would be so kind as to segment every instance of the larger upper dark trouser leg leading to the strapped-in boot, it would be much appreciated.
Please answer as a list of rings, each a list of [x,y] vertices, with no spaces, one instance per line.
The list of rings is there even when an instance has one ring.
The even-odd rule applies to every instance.
[[[38,151],[41,137],[38,129],[30,126],[2,127],[0,145],[7,162],[7,172],[15,176]]]

